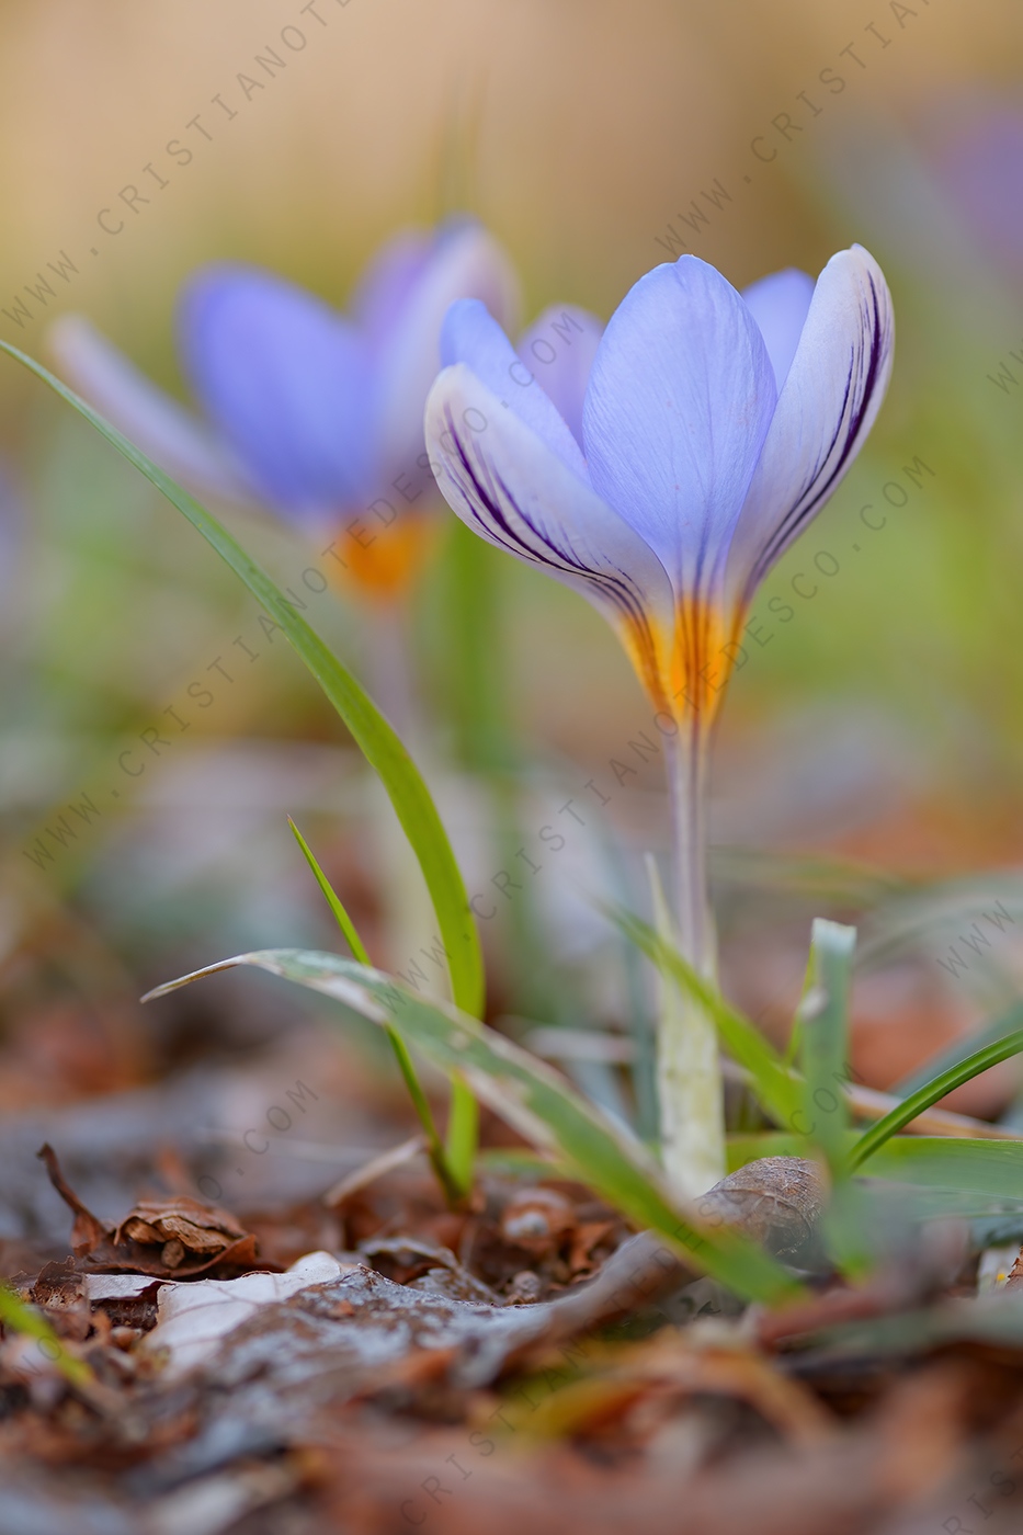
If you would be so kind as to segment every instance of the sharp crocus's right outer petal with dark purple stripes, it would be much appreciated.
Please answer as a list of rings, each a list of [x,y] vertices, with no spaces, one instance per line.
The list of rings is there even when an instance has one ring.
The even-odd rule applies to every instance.
[[[728,556],[736,603],[754,588],[836,490],[880,410],[894,319],[883,273],[862,246],[817,278]]]

